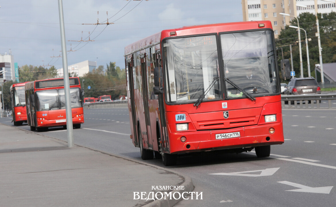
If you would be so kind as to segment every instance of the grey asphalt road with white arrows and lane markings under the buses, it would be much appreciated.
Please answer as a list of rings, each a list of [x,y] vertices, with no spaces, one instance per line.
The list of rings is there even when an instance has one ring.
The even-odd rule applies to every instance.
[[[82,128],[74,129],[75,144],[141,160],[129,137],[127,109],[84,113]],[[9,118],[0,120],[12,125]],[[336,110],[285,109],[283,123],[285,143],[271,146],[267,158],[218,151],[180,156],[166,168],[190,176],[194,191],[203,193],[176,206],[335,206]],[[67,140],[62,128],[39,133]],[[145,162],[164,167],[158,159]]]

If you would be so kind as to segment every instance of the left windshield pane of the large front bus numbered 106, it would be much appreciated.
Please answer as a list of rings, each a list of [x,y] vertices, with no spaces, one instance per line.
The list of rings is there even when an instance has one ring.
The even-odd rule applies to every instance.
[[[166,39],[163,47],[168,102],[195,102],[204,92],[204,100],[221,98],[215,35]]]

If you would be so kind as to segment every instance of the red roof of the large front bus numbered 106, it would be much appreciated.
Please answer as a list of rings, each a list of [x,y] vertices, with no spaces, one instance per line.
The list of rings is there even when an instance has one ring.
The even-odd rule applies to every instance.
[[[261,24],[261,25],[260,25]],[[263,24],[263,26],[262,26]],[[141,51],[145,48],[158,45],[166,37],[178,37],[188,36],[193,34],[206,34],[206,33],[218,33],[225,31],[242,31],[249,29],[259,28],[272,28],[270,21],[242,21],[242,22],[229,22],[229,23],[217,23],[217,24],[204,24],[194,26],[183,26],[175,29],[165,29],[161,32],[153,34],[135,43],[132,43],[125,47],[125,55],[128,56],[134,52]],[[171,33],[172,32],[172,33]],[[160,49],[158,46],[156,50]]]

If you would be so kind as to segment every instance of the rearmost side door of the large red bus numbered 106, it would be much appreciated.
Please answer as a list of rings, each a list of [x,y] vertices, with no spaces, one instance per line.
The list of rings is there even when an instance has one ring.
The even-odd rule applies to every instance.
[[[138,139],[137,137],[137,131],[136,131],[136,113],[135,113],[135,105],[134,105],[134,74],[133,74],[133,64],[132,62],[134,61],[133,59],[133,55],[132,58],[127,60],[127,68],[128,68],[128,72],[126,74],[128,74],[128,87],[129,87],[129,102],[131,103],[131,116],[132,116],[132,123],[133,124],[133,133],[134,133],[134,144],[135,146],[139,146],[138,143]],[[126,70],[127,70],[126,68]]]

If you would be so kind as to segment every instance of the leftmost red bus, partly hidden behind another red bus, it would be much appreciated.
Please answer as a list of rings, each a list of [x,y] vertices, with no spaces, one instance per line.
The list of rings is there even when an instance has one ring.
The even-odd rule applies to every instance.
[[[20,126],[27,122],[25,84],[15,83],[10,86],[10,100],[12,102],[12,114],[14,126]]]

